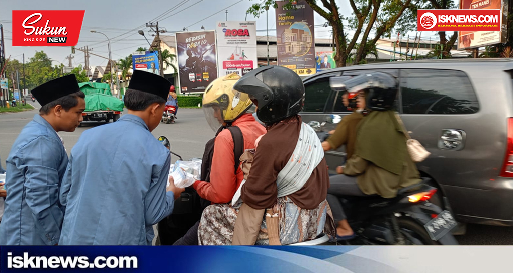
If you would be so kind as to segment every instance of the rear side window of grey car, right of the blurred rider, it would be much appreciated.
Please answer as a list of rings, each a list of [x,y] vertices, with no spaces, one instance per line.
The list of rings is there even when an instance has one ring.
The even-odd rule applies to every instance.
[[[401,70],[405,114],[472,114],[479,103],[470,80],[461,71]]]

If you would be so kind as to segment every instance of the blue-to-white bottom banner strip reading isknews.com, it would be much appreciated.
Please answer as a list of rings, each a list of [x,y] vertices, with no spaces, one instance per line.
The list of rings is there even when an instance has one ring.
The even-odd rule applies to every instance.
[[[511,255],[511,246],[2,246],[0,271],[504,272]]]

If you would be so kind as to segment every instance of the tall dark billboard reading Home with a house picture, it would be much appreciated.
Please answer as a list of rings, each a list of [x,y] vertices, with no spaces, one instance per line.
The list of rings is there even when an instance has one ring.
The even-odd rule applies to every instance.
[[[284,7],[288,1],[276,3],[278,65],[300,76],[315,74],[313,9],[305,0],[292,1],[292,9]]]

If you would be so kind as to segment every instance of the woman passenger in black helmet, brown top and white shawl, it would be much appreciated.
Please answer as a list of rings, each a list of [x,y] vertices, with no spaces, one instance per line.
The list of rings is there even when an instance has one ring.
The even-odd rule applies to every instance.
[[[317,237],[326,220],[329,179],[321,142],[298,115],[305,100],[301,78],[288,68],[266,66],[244,75],[233,89],[249,95],[267,126],[240,188],[244,204],[261,211],[262,228],[252,243],[290,244]],[[269,216],[262,222],[265,209]],[[230,204],[207,207],[200,244],[231,244],[238,211]]]

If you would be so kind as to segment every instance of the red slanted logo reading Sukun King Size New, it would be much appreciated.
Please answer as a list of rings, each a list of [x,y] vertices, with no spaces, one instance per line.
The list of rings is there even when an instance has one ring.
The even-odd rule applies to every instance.
[[[13,10],[12,46],[76,46],[85,10]]]

